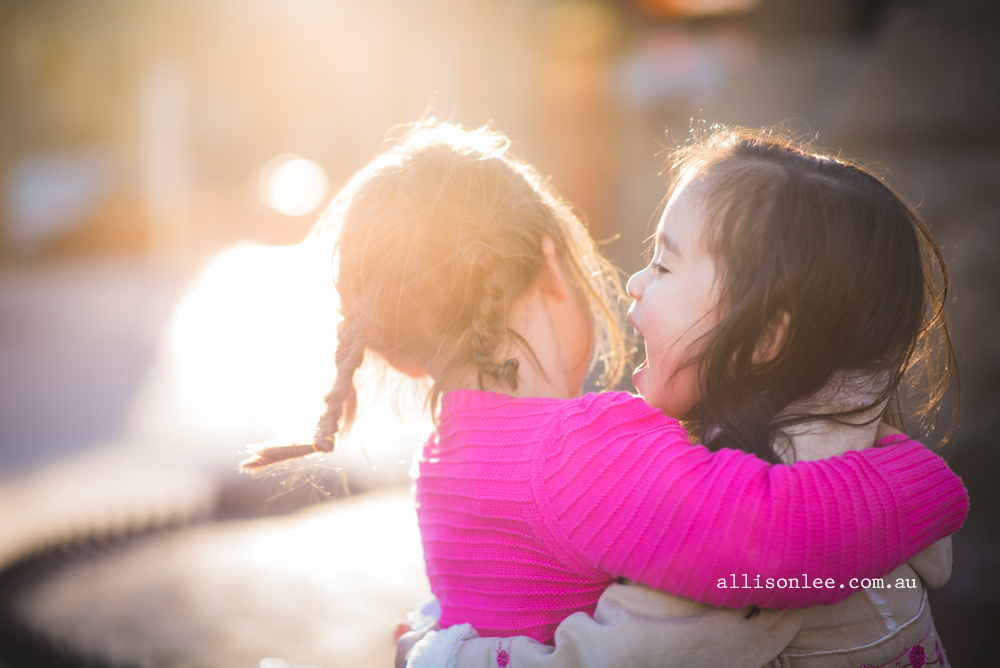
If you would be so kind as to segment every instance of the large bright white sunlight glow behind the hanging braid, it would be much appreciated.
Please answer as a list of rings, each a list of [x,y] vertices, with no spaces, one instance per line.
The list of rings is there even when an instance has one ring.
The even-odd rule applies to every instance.
[[[242,458],[251,443],[311,443],[336,375],[339,299],[328,239],[241,246],[216,257],[181,300],[136,418],[172,448]],[[406,479],[432,427],[415,381],[366,362],[358,419],[322,460],[365,485]],[[401,408],[397,408],[400,406]]]

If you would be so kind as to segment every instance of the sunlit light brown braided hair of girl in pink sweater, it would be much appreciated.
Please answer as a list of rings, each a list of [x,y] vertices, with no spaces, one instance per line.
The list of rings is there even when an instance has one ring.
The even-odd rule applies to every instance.
[[[470,363],[481,388],[517,389],[516,360],[498,356],[524,343],[506,320],[545,266],[545,237],[592,313],[591,364],[603,365],[605,385],[617,382],[625,359],[618,274],[570,206],[509,147],[488,128],[411,125],[340,192],[320,223],[337,234],[343,316],[326,412],[312,445],[265,448],[244,468],[332,450],[354,419],[354,373],[366,350],[440,369],[432,409],[442,381]]]

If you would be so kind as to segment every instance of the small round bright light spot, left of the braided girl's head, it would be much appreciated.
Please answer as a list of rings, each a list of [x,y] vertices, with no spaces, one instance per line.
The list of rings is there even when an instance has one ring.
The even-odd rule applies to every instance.
[[[257,189],[269,207],[286,216],[315,211],[326,197],[326,172],[312,160],[291,153],[272,159],[260,171]]]

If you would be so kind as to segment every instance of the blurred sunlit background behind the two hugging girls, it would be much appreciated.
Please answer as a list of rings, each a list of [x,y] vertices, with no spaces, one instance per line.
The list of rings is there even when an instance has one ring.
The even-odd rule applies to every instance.
[[[367,384],[322,467],[235,466],[310,437],[337,298],[303,239],[430,116],[507,133],[627,273],[698,123],[890,170],[961,371],[932,606],[953,665],[1000,665],[1000,4],[0,0],[0,666],[388,665],[418,388]]]

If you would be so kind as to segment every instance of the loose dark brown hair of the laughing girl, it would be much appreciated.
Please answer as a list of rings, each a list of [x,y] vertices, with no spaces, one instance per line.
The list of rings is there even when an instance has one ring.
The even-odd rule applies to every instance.
[[[671,157],[672,190],[696,184],[706,202],[721,279],[719,323],[689,360],[702,390],[686,416],[693,436],[778,462],[794,424],[844,422],[888,401],[901,426],[903,389],[922,393],[914,413],[936,414],[954,362],[948,273],[913,207],[865,169],[778,131],[716,126]],[[782,320],[762,361],[755,353],[774,345]],[[863,405],[810,411],[831,385],[860,390]]]

